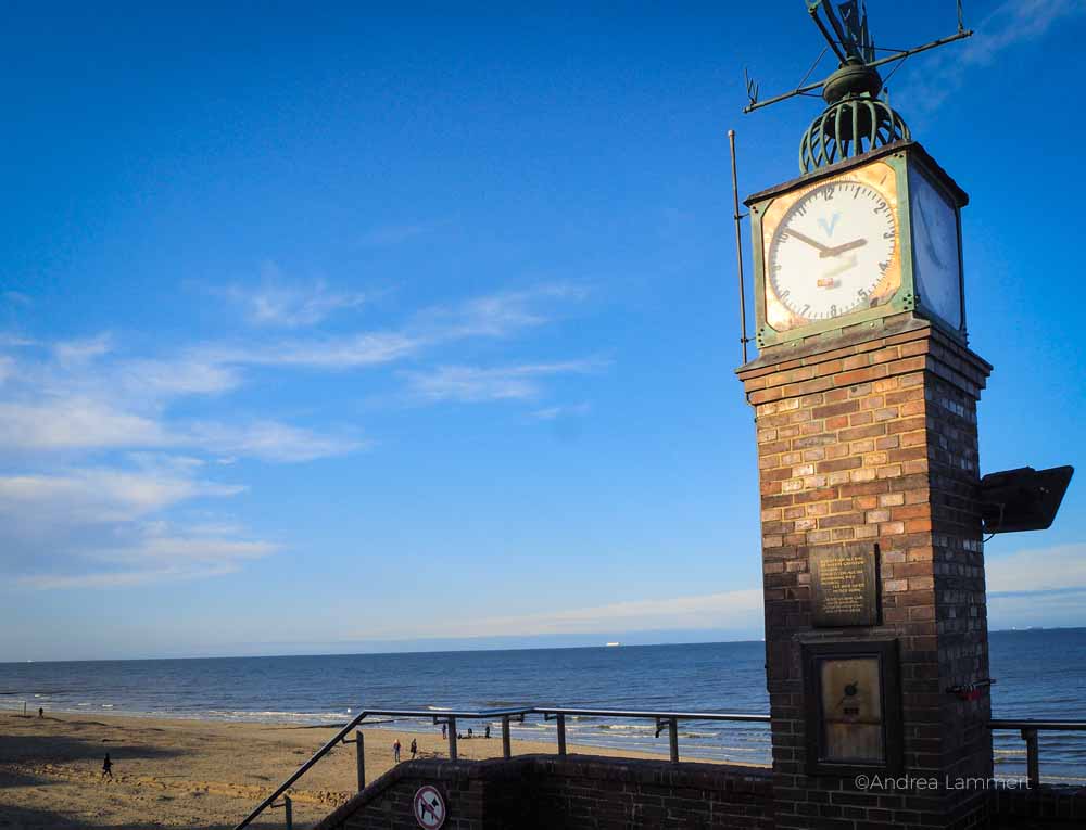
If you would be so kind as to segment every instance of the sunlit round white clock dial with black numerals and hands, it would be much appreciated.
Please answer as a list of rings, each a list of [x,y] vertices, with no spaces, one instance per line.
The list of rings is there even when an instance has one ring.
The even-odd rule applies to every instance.
[[[874,304],[897,253],[887,200],[861,181],[821,184],[781,217],[767,276],[781,303],[804,320],[829,320]]]

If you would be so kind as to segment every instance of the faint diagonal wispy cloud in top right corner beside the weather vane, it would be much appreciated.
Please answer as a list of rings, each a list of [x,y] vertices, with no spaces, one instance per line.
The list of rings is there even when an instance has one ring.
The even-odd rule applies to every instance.
[[[980,24],[963,44],[925,56],[922,73],[905,75],[895,98],[906,101],[904,112],[933,113],[957,93],[972,72],[990,66],[1014,47],[1045,37],[1061,21],[1086,13],[1084,0],[1005,0]]]

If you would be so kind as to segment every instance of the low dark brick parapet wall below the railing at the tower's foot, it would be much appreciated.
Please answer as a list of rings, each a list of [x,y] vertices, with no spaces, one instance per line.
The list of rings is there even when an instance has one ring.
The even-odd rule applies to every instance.
[[[773,830],[774,787],[769,770],[718,764],[671,764],[589,755],[523,755],[509,761],[412,761],[374,781],[314,830],[417,830],[412,799],[424,784],[438,787],[453,830],[570,828],[724,828]],[[836,797],[834,797],[836,795]],[[818,792],[799,826],[805,830],[879,827],[858,819],[855,794]],[[1086,788],[982,792],[978,819],[965,816],[954,830],[1071,830],[1086,827]],[[822,806],[839,814],[828,817]],[[868,810],[870,821],[897,815],[898,827],[921,814],[895,809],[891,800]],[[782,825],[786,827],[788,825]]]

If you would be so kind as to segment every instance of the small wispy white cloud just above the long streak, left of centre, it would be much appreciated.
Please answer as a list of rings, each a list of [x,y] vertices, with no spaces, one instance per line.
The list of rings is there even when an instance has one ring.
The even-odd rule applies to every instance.
[[[231,285],[223,293],[242,308],[250,323],[287,329],[315,325],[368,299],[362,292],[332,291],[324,280],[291,283],[275,264],[265,266],[260,285]]]

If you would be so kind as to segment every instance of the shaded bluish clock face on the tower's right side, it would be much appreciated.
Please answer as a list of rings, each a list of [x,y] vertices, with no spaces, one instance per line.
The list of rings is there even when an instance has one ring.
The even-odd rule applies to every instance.
[[[909,175],[912,270],[920,304],[961,328],[961,258],[958,213],[917,169]]]

